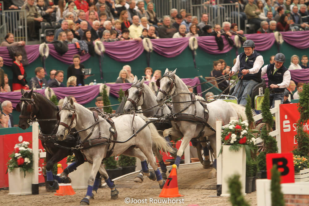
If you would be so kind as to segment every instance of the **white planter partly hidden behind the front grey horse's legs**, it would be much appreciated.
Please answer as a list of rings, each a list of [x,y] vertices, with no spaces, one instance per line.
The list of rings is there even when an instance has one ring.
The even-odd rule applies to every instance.
[[[68,163],[68,166],[70,164],[72,163]],[[92,165],[89,162],[84,162],[77,167],[77,170],[69,174],[69,177],[72,180],[71,185],[73,189],[87,189],[91,168]]]

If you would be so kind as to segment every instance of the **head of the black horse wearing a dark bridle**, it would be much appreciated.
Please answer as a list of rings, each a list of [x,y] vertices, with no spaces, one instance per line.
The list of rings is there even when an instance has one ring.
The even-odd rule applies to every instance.
[[[16,111],[20,111],[18,126],[22,129],[27,129],[39,111],[39,106],[36,102],[36,93],[33,93],[33,90],[25,92],[21,89],[20,92],[22,96],[16,105]]]

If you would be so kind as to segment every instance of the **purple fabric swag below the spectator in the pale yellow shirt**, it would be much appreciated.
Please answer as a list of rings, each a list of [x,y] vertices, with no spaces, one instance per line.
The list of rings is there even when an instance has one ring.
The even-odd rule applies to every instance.
[[[104,47],[109,57],[120,62],[133,61],[144,51],[143,44],[139,41],[104,42]]]

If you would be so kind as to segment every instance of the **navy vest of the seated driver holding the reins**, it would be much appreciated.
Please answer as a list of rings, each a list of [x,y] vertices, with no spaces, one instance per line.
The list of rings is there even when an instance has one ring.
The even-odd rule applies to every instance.
[[[248,60],[246,61],[246,54],[243,52],[241,54],[239,54],[239,73],[238,73],[238,77],[240,77],[242,75],[241,71],[243,69],[252,69],[254,61],[256,59],[257,56],[260,56],[259,53],[257,53],[256,51],[253,52],[253,54],[248,57]],[[256,74],[246,74],[243,76],[243,80],[254,80],[256,82],[261,82],[261,69],[259,70],[258,73]]]

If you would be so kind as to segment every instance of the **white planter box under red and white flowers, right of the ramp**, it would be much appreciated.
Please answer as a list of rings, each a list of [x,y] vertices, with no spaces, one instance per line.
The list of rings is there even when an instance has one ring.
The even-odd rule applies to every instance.
[[[234,174],[240,175],[242,185],[241,193],[246,195],[246,152],[240,147],[238,152],[230,151],[229,145],[223,145],[222,149],[222,197],[230,196],[227,180]]]

